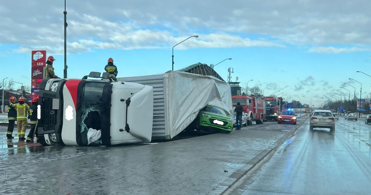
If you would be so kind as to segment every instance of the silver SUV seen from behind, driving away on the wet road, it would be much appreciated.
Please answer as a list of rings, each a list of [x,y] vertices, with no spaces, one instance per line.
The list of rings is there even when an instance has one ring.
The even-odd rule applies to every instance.
[[[335,131],[335,118],[330,110],[315,110],[309,121],[309,130],[313,128],[329,128],[330,131]]]

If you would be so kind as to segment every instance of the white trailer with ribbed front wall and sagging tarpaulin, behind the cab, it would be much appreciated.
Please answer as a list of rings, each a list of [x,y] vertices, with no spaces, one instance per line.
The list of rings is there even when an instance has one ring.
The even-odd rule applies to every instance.
[[[206,105],[224,108],[233,115],[230,85],[214,76],[168,71],[118,80],[153,87],[152,140],[172,139],[191,124]],[[151,109],[145,111],[152,112]]]

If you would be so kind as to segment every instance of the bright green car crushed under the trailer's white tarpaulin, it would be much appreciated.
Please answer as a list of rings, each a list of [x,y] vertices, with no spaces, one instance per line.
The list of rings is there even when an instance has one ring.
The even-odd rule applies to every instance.
[[[223,108],[207,105],[198,113],[196,130],[230,133],[233,130],[234,119]]]

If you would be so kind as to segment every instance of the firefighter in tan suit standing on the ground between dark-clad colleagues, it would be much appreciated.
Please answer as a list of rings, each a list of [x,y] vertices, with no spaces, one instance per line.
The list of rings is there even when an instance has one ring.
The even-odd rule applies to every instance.
[[[24,102],[24,97],[21,96],[17,104],[12,105],[17,111],[17,129],[19,140],[25,140],[24,135],[26,134],[27,127],[27,114],[30,112],[30,107]]]

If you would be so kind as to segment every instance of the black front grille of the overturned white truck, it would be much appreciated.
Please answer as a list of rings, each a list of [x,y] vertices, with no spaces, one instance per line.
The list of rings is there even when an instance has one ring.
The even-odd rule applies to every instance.
[[[50,114],[52,111],[53,98],[44,97],[41,105],[40,127],[50,127],[57,124],[57,114]]]

